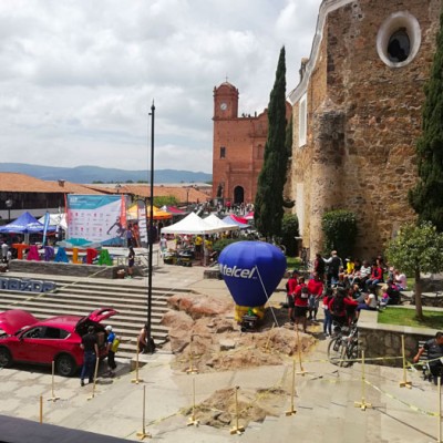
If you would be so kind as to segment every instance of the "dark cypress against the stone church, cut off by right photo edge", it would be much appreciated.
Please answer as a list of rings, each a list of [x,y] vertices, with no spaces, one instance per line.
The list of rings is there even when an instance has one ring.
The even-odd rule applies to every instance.
[[[431,66],[424,89],[422,135],[416,142],[419,182],[409,202],[419,222],[431,222],[443,231],[443,11]]]

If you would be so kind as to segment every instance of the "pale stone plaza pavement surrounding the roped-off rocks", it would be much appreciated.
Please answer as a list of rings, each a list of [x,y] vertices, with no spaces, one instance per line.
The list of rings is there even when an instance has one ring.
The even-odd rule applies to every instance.
[[[167,288],[188,288],[196,292],[229,297],[220,280],[204,279],[202,267],[162,265],[155,269],[153,285]],[[144,284],[134,279],[133,285]],[[284,287],[280,284],[280,289]],[[276,292],[272,303],[282,301],[285,293]],[[239,332],[240,333],[240,332]],[[338,368],[326,361],[327,340],[319,340],[315,350],[302,362],[305,375],[296,375],[295,409],[286,416],[289,396],[285,398],[277,416],[267,416],[262,423],[250,423],[241,436],[230,435],[229,427],[205,425],[187,426],[187,416],[181,411],[193,404],[192,380],[195,379],[196,404],[216,390],[274,389],[290,391],[292,363],[279,367],[202,373],[188,375],[171,369],[173,356],[167,349],[153,356],[143,356],[146,364],[140,369],[140,383],[133,383],[135,372],[127,361],[119,360],[117,377],[100,378],[93,399],[92,387],[81,388],[79,379],[54,378],[52,396],[51,373],[47,369],[22,367],[0,370],[0,414],[39,420],[39,400],[43,395],[43,421],[61,426],[96,432],[137,441],[143,429],[143,390],[146,392],[146,431],[153,441],[163,443],[218,443],[241,439],[243,442],[416,442],[436,441],[439,421],[436,387],[421,380],[420,373],[409,372],[412,389],[400,388],[401,369],[365,365],[362,390],[361,364]],[[101,371],[103,372],[102,364]],[[297,360],[297,370],[299,362]],[[143,379],[143,381],[141,381]],[[354,402],[372,403],[364,411]],[[196,413],[198,419],[198,412]],[[239,423],[241,425],[241,421]],[[1,440],[1,430],[0,430]]]

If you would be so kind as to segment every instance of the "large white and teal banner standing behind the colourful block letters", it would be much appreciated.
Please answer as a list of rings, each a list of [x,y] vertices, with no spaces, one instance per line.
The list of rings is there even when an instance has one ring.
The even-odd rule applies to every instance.
[[[78,246],[124,246],[126,220],[121,195],[68,195],[66,239]]]

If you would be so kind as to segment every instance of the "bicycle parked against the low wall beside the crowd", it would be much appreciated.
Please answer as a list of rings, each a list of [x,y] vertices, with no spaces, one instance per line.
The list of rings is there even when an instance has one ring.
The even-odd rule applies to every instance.
[[[356,324],[341,328],[328,346],[328,360],[340,368],[348,368],[359,357],[358,329]]]

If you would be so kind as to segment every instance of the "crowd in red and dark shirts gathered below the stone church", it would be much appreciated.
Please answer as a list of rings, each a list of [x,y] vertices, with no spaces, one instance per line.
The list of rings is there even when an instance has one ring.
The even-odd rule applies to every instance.
[[[389,267],[381,256],[370,265],[368,260],[352,258],[343,262],[336,250],[329,258],[317,254],[308,281],[297,270],[287,281],[289,321],[296,329],[301,324],[307,332],[308,320],[317,321],[321,306],[323,333],[328,337],[333,322],[350,324],[358,320],[361,310],[398,305],[406,285],[406,276]]]

